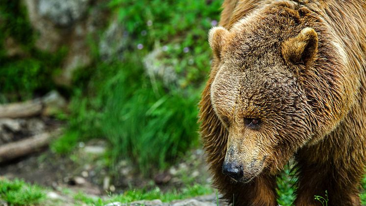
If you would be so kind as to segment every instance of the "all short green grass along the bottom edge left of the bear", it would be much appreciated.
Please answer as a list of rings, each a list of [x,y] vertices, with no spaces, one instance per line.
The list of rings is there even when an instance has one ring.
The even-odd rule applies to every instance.
[[[48,201],[46,193],[46,188],[31,185],[20,179],[0,179],[0,200],[9,205],[39,205]],[[173,189],[167,192],[162,192],[158,187],[152,190],[130,189],[120,195],[110,194],[107,199],[90,197],[82,192],[72,194],[70,190],[64,190],[64,194],[72,196],[76,203],[96,206],[103,206],[111,202],[130,203],[132,201],[154,199],[170,202],[211,193],[213,193],[212,188],[200,184],[184,187],[180,191]],[[51,202],[47,203],[51,204]]]

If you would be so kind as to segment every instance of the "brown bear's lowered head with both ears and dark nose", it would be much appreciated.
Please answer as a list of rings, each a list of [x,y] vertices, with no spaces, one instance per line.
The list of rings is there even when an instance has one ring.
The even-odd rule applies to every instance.
[[[222,170],[237,181],[276,174],[346,114],[342,51],[311,15],[277,5],[209,31],[211,105],[229,134]]]

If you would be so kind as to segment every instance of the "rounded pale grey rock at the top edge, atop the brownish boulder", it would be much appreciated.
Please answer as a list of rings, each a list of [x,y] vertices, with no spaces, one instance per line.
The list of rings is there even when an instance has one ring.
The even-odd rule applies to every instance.
[[[61,27],[70,27],[84,16],[90,0],[39,0],[38,12],[41,16]]]

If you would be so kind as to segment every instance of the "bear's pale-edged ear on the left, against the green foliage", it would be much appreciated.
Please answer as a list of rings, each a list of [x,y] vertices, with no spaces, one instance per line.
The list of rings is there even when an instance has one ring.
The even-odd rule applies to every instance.
[[[212,49],[213,55],[218,59],[221,58],[221,49],[226,35],[229,31],[223,27],[214,27],[209,30],[209,46]]]

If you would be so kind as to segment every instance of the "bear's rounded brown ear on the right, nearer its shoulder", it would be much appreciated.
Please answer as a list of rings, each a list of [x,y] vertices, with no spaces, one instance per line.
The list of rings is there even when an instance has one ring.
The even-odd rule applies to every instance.
[[[282,44],[282,57],[286,63],[306,64],[316,56],[318,48],[318,35],[312,28],[302,29],[293,38],[286,40]]]

